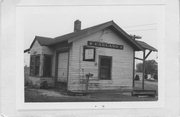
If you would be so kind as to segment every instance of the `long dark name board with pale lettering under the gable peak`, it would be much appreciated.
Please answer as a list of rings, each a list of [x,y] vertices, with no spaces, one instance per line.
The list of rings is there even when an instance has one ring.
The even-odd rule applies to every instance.
[[[118,44],[111,44],[111,43],[105,43],[105,42],[97,42],[97,41],[88,41],[88,46],[96,46],[96,47],[104,47],[104,48],[112,48],[112,49],[120,49],[123,50],[123,45]]]

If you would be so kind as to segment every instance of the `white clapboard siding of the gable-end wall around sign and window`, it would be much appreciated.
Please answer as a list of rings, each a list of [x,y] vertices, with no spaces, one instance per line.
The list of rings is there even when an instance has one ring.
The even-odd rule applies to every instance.
[[[96,47],[95,62],[83,61],[83,46],[87,41],[103,41],[107,43],[124,45],[123,50]],[[98,62],[99,55],[112,56],[112,79],[99,80]],[[117,89],[132,88],[133,77],[133,48],[117,36],[112,30],[106,29],[91,36],[77,39],[72,44],[69,64],[69,90],[83,90],[81,79],[85,74],[92,73],[93,78],[89,81],[89,89]]]

